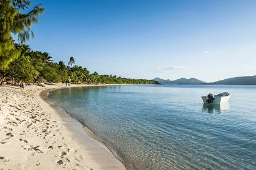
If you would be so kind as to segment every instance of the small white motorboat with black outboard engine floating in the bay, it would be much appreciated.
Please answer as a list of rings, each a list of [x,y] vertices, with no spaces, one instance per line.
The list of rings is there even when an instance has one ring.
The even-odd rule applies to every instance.
[[[229,92],[222,92],[220,94],[209,94],[207,96],[202,96],[203,103],[211,104],[221,104],[229,101],[230,94]]]

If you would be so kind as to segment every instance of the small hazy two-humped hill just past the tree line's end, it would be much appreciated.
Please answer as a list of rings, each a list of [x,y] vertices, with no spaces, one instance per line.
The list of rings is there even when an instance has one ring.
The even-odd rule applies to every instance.
[[[161,84],[203,84],[203,83],[205,83],[205,82],[195,79],[195,78],[190,78],[190,79],[181,78],[181,79],[177,79],[177,80],[173,80],[173,81],[171,81],[169,79],[164,80],[161,78],[154,78],[153,80],[157,81]]]

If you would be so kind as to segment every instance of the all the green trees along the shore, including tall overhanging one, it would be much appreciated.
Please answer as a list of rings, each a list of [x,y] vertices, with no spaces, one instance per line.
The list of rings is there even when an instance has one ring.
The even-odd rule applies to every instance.
[[[21,13],[21,11],[27,11]],[[87,68],[75,65],[70,57],[66,65],[54,62],[48,52],[33,51],[25,44],[33,31],[30,27],[43,14],[41,4],[31,5],[26,0],[0,0],[0,81],[52,82],[52,83],[106,83],[106,84],[155,84],[153,80],[121,78],[115,75],[90,74]],[[18,35],[14,42],[12,33]]]

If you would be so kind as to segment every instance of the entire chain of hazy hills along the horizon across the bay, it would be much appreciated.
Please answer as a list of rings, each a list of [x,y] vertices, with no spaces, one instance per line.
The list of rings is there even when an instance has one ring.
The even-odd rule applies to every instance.
[[[226,85],[256,85],[256,75],[254,76],[239,76],[239,77],[234,77],[234,78],[228,78],[224,80],[219,80],[217,82],[211,82],[211,83],[206,83],[203,82],[202,80],[198,80],[195,78],[181,78],[177,80],[165,80],[161,78],[154,78],[152,79],[159,84],[226,84]]]

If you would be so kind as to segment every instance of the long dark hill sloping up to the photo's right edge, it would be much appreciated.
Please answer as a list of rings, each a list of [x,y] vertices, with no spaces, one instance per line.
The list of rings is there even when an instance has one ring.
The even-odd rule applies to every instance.
[[[218,82],[207,83],[207,84],[256,85],[256,75],[229,78],[229,79],[224,79]]]

